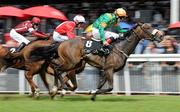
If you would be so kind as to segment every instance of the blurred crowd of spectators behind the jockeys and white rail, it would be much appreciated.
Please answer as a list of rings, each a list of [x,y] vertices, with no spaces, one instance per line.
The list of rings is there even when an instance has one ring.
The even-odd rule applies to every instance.
[[[153,3],[156,3],[153,4]],[[158,7],[157,5],[162,5]],[[141,40],[137,45],[135,54],[162,54],[162,53],[180,53],[180,42],[178,29],[168,29],[170,24],[170,6],[166,1],[161,2],[149,2],[136,4],[136,2],[109,2],[109,3],[79,3],[79,4],[56,4],[51,5],[64,12],[64,14],[72,20],[76,14],[81,14],[86,18],[87,26],[95,21],[101,14],[105,12],[113,12],[114,9],[123,7],[127,10],[129,18],[141,18],[144,22],[150,23],[153,27],[163,30],[165,32],[166,41],[162,45],[149,42],[148,40]],[[96,4],[96,5],[95,5]],[[134,5],[133,5],[134,4]],[[27,5],[19,5],[20,8],[26,8]],[[146,7],[146,10],[144,9]],[[140,13],[140,14],[139,14]],[[147,15],[147,16],[146,16]],[[8,45],[14,44],[14,41],[9,39],[8,30],[16,25],[21,20],[13,21],[13,24],[9,26],[7,31],[3,32],[4,39]],[[55,19],[43,19],[41,30],[46,33],[52,33],[54,28],[61,23]],[[1,23],[0,23],[1,24]],[[81,32],[84,29],[76,31],[77,35],[82,35]],[[9,41],[10,40],[10,41]]]

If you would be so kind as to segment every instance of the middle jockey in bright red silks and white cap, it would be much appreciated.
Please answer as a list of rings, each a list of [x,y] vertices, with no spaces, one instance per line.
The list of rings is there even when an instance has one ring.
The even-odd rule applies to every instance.
[[[75,38],[74,29],[81,28],[85,23],[85,18],[82,15],[76,15],[73,21],[65,21],[59,24],[53,32],[54,41],[65,41],[68,39]]]

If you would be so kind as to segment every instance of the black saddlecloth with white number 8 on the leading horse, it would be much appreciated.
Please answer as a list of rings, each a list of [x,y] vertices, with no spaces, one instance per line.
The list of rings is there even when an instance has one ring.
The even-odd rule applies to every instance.
[[[112,45],[109,46],[103,46],[103,44],[100,41],[96,40],[85,40],[84,43],[84,52],[85,54],[94,54],[99,56],[107,56],[111,53],[113,49]]]

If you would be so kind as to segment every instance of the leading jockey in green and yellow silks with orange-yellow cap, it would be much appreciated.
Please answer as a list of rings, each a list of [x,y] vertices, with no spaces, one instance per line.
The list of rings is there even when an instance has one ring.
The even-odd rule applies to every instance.
[[[108,46],[113,40],[120,36],[117,33],[105,31],[105,29],[110,26],[117,26],[119,21],[123,21],[126,17],[126,11],[123,8],[118,8],[113,13],[105,13],[101,15],[93,23],[93,38],[101,40],[104,46]]]

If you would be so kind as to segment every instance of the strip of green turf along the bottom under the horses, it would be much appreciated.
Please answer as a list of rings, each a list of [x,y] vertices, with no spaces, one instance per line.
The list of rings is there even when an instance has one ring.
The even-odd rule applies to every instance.
[[[59,96],[39,100],[26,95],[0,95],[0,112],[180,112],[180,96]]]

